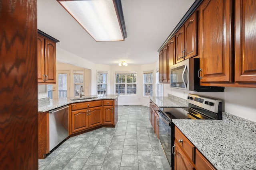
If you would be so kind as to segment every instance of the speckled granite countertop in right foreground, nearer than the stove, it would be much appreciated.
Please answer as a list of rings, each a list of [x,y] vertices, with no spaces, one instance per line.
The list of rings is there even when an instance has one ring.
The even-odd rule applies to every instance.
[[[223,120],[172,121],[218,170],[256,169],[256,134],[252,131]]]

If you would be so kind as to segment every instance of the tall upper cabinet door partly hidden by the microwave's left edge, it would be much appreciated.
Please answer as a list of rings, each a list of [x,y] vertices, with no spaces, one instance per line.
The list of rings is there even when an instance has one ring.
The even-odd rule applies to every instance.
[[[168,68],[167,68],[167,82],[170,82],[170,66],[175,64],[175,36],[170,39],[167,45],[167,51],[168,51]]]

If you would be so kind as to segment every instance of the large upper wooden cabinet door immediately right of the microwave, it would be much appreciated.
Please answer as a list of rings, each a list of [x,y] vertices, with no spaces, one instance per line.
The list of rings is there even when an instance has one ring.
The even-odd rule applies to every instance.
[[[201,82],[231,82],[230,0],[205,0],[200,6]]]

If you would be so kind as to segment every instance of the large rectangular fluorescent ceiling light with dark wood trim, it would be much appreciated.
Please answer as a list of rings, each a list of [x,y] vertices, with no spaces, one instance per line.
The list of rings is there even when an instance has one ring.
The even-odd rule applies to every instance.
[[[127,37],[121,0],[57,1],[95,41],[124,41]]]

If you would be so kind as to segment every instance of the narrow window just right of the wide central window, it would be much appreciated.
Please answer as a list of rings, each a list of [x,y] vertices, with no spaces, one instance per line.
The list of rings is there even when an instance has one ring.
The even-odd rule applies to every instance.
[[[144,71],[143,84],[143,96],[153,96],[153,71]]]

